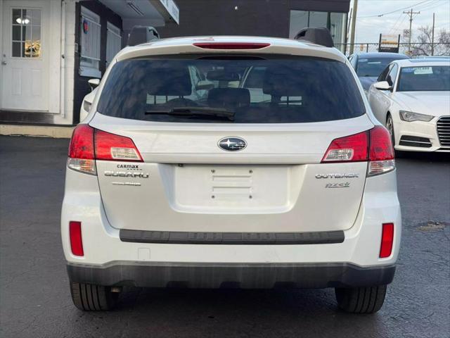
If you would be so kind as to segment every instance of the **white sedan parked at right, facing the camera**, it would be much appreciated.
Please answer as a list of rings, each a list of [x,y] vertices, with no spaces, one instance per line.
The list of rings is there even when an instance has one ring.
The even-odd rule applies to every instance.
[[[371,85],[375,117],[402,151],[450,152],[450,61],[393,61]]]

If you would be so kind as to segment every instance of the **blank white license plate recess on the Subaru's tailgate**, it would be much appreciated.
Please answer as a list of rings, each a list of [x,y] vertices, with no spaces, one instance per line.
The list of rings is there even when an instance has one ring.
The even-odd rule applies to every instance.
[[[192,211],[276,211],[289,205],[285,165],[183,165],[175,170],[176,204]]]

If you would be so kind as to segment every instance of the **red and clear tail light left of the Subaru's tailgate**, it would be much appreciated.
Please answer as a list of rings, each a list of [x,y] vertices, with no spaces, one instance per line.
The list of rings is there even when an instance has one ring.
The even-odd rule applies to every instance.
[[[95,160],[142,162],[142,157],[129,137],[77,125],[70,140],[68,167],[96,175]]]

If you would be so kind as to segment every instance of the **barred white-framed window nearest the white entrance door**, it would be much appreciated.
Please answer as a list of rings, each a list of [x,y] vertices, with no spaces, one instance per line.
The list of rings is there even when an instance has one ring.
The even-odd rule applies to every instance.
[[[79,75],[101,77],[100,47],[101,24],[100,16],[82,6],[80,20],[80,62]]]

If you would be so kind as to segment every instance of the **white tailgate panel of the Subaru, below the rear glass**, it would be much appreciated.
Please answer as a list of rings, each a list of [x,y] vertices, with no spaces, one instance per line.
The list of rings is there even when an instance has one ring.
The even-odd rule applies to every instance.
[[[113,227],[316,232],[348,229],[358,213],[367,163],[320,162],[333,139],[373,126],[365,115],[338,124],[238,129],[105,120],[118,119],[96,115],[92,125],[131,137],[145,161],[97,161]],[[220,149],[219,140],[231,136],[244,139],[245,149]]]

